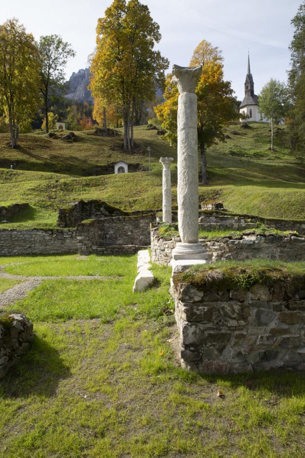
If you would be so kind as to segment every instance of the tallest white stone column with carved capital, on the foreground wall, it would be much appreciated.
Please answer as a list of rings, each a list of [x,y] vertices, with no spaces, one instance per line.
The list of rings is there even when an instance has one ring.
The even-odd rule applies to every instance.
[[[206,251],[198,241],[198,115],[195,93],[202,66],[173,66],[172,81],[178,86],[178,228],[181,242],[172,251],[173,274],[194,264],[205,264]]]

